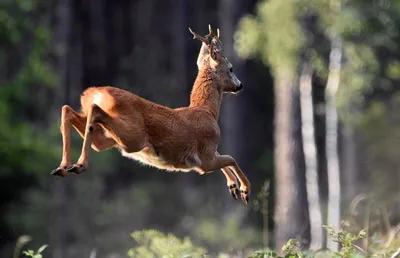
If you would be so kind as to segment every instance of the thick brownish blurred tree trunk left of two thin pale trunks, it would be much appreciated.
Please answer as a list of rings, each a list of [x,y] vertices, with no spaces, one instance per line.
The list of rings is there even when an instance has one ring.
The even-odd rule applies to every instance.
[[[275,81],[276,248],[291,238],[308,240],[309,225],[301,141],[299,89],[289,76]]]

